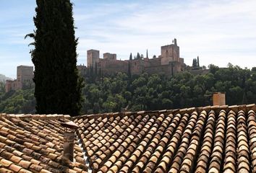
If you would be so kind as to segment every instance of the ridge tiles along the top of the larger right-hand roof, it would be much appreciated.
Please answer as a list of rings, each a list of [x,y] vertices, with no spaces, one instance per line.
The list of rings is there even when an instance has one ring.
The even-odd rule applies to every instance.
[[[118,116],[118,115],[142,115],[142,114],[153,114],[153,113],[164,113],[164,114],[170,114],[170,113],[191,113],[194,111],[207,111],[209,112],[210,110],[216,110],[216,111],[221,111],[225,110],[226,112],[229,112],[229,110],[233,110],[234,112],[239,112],[240,110],[243,110],[244,112],[248,112],[249,110],[254,110],[256,112],[256,105],[251,104],[251,105],[222,105],[222,106],[206,106],[206,107],[189,107],[189,108],[182,108],[182,109],[176,109],[176,110],[143,110],[143,111],[138,111],[138,112],[109,112],[109,113],[100,113],[100,114],[90,114],[90,115],[79,115],[72,117],[73,120],[77,118],[98,118],[98,117],[111,117],[111,116]]]

